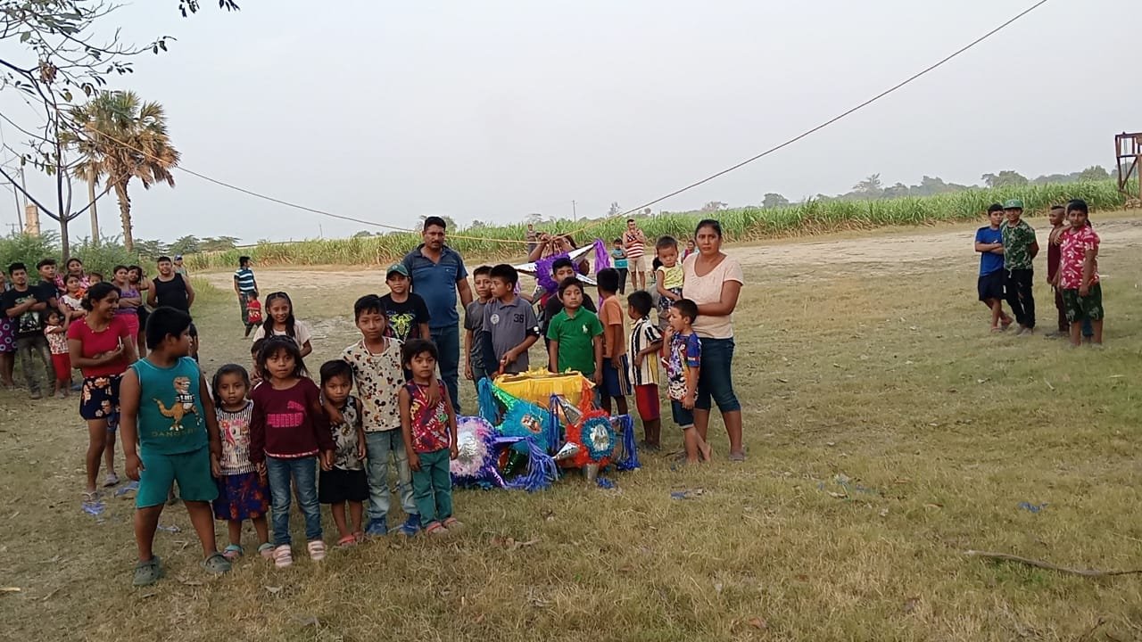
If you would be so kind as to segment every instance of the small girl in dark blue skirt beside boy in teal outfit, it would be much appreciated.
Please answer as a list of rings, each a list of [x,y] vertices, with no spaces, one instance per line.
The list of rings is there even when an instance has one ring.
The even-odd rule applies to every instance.
[[[222,474],[214,509],[215,517],[225,520],[230,531],[230,544],[222,554],[231,561],[242,556],[242,522],[250,520],[258,533],[258,554],[268,560],[274,555],[266,523],[270,488],[250,462],[250,419],[254,417],[254,402],[247,399],[250,376],[246,368],[227,363],[215,372],[210,387],[222,438],[218,462]]]

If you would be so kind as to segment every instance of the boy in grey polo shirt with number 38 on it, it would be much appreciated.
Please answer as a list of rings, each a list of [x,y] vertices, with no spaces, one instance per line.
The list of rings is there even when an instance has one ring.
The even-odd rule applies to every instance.
[[[515,295],[520,275],[515,267],[500,264],[489,273],[493,300],[484,306],[484,331],[491,340],[498,374],[517,375],[531,362],[528,348],[539,339],[536,312]]]

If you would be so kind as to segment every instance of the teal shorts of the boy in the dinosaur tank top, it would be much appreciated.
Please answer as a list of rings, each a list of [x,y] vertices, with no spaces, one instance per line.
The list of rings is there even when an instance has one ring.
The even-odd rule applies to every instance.
[[[136,508],[166,504],[175,482],[178,482],[178,497],[183,501],[214,501],[218,498],[218,483],[210,474],[210,447],[177,455],[143,450],[139,458],[143,470],[139,471],[139,489],[135,495]]]

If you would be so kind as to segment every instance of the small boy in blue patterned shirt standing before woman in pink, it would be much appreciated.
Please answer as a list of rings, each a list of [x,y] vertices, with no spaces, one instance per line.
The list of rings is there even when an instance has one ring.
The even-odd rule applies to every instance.
[[[670,414],[674,423],[682,428],[687,464],[697,464],[699,457],[702,462],[710,460],[710,447],[694,428],[694,394],[702,362],[702,344],[692,327],[697,318],[698,306],[694,302],[674,302],[670,306],[670,351],[662,359],[668,380]]]

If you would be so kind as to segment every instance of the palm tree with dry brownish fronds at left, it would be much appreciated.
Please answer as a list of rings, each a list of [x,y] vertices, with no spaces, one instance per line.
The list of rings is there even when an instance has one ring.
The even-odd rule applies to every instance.
[[[179,154],[167,135],[162,105],[144,103],[134,91],[100,91],[86,105],[73,107],[71,115],[81,128],[67,137],[83,154],[79,172],[104,178],[106,187],[115,191],[123,244],[134,251],[127,184],[138,178],[144,190],[155,183],[175,186],[170,170],[178,166]]]

